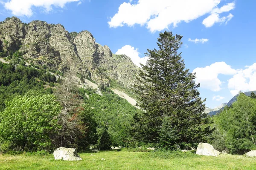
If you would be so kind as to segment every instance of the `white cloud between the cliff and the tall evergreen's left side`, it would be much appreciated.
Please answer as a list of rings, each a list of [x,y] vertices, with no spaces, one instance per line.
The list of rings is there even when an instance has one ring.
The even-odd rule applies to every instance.
[[[140,58],[138,48],[134,49],[134,47],[132,47],[130,45],[123,46],[121,49],[117,50],[116,54],[118,54],[118,55],[121,55],[121,54],[127,55],[128,57],[131,58],[131,61],[139,67],[140,67],[140,63],[145,65],[145,63],[148,60],[148,57]]]

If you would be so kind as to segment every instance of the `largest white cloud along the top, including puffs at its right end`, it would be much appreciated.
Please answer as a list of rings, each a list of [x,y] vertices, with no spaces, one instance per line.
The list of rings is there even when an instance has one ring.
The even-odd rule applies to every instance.
[[[189,23],[205,14],[210,14],[203,24],[207,27],[214,23],[223,23],[233,15],[220,17],[219,14],[235,8],[235,3],[228,3],[221,8],[217,5],[221,0],[138,0],[122,3],[118,12],[108,22],[110,27],[145,25],[151,32],[168,29],[185,21]]]

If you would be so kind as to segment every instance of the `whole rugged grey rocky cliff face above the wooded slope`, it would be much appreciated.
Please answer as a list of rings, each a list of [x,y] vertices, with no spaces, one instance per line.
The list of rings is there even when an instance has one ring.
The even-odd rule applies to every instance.
[[[18,52],[28,63],[42,68],[74,69],[84,78],[109,86],[114,80],[130,88],[139,68],[126,55],[113,55],[96,43],[88,31],[69,33],[60,24],[44,21],[22,23],[17,17],[0,23],[0,52]]]

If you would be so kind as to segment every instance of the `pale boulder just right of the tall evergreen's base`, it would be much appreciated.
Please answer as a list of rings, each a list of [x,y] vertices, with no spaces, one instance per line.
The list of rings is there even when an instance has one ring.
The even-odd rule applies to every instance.
[[[212,145],[207,143],[199,143],[197,150],[197,155],[204,155],[204,156],[218,156],[220,152],[215,150]]]

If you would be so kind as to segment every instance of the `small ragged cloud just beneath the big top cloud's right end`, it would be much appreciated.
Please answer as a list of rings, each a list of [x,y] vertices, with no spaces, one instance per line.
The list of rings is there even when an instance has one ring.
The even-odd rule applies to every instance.
[[[215,23],[227,24],[233,17],[233,14],[229,14],[227,17],[220,17],[219,14],[213,13],[203,20],[203,24],[205,27],[212,27]]]

